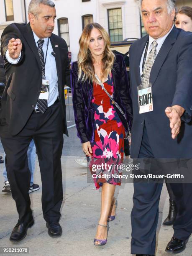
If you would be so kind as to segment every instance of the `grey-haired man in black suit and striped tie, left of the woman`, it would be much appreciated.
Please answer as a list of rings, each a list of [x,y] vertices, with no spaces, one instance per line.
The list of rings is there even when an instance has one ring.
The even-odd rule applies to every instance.
[[[50,236],[61,236],[61,153],[67,135],[64,84],[70,70],[66,42],[52,34],[56,10],[50,0],[31,0],[29,23],[13,23],[1,37],[7,83],[0,135],[19,219],[10,241],[22,240],[33,223],[27,149],[34,139],[42,179],[42,208]]]

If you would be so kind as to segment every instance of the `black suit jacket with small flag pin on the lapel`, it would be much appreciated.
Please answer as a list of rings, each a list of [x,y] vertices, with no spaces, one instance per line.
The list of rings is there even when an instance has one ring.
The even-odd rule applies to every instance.
[[[18,64],[10,64],[5,58],[11,38],[20,38],[23,44]],[[68,135],[64,100],[64,84],[70,84],[68,48],[64,39],[54,34],[51,35],[50,41],[56,54],[58,90],[63,110],[61,118],[64,119],[64,133]],[[7,82],[0,110],[0,132],[2,135],[7,130],[10,134],[16,135],[25,126],[34,110],[42,83],[40,58],[29,23],[13,23],[5,28],[1,36],[1,54],[5,59]]]

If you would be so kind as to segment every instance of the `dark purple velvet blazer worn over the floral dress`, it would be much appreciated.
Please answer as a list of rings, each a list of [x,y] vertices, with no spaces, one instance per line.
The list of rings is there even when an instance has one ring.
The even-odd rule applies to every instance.
[[[112,76],[114,92],[113,98],[125,113],[126,119],[131,127],[133,114],[128,75],[125,67],[123,56],[115,55],[116,59],[113,64]],[[77,61],[72,63],[71,70],[71,87],[73,96],[74,118],[77,127],[77,136],[81,142],[94,141],[94,113],[92,107],[93,84],[89,81],[78,82]],[[114,105],[115,107],[115,105]],[[115,108],[125,130],[127,124],[123,115]]]

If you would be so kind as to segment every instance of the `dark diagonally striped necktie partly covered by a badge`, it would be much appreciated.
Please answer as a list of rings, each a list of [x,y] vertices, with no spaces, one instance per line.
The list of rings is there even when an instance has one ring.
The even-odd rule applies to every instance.
[[[39,55],[40,61],[41,61],[42,77],[45,77],[45,61],[44,61],[44,52],[43,52],[44,40],[39,39],[37,43],[38,43],[38,47],[37,47],[38,55]],[[47,109],[47,100],[38,99],[37,108],[38,108],[38,110],[41,111],[42,114],[44,114]]]

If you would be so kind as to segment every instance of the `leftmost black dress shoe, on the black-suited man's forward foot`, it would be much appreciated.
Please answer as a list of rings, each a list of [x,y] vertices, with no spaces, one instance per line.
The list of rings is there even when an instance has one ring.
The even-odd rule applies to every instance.
[[[28,228],[31,228],[33,226],[33,224],[34,224],[33,218],[32,218],[31,221],[29,221],[27,223],[26,222],[20,223],[20,224],[18,223],[15,226],[15,228],[13,228],[13,231],[12,231],[12,233],[10,235],[9,240],[11,242],[19,242],[19,241],[21,241],[23,238],[26,237]]]

